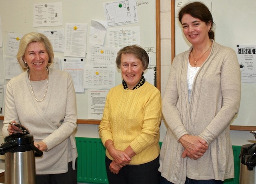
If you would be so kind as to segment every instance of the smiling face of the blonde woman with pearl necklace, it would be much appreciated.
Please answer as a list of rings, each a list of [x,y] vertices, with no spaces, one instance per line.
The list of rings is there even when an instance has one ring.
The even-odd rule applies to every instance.
[[[41,42],[31,42],[24,53],[23,61],[27,62],[32,73],[46,71],[49,55]]]

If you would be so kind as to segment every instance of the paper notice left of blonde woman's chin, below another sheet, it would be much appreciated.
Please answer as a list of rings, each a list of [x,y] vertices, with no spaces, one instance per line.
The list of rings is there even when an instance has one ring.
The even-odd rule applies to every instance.
[[[11,79],[23,72],[15,57],[5,57],[5,78]]]

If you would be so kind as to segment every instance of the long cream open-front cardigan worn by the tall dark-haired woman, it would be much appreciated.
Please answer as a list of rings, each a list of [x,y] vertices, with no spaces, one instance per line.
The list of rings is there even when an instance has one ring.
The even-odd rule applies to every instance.
[[[213,40],[212,40],[213,41]],[[211,53],[198,70],[188,102],[187,69],[192,47],[173,61],[163,98],[168,125],[160,152],[162,176],[176,184],[186,177],[225,180],[234,177],[229,124],[238,113],[241,79],[234,50],[213,41]],[[181,157],[185,134],[204,139],[209,148],[198,160]]]

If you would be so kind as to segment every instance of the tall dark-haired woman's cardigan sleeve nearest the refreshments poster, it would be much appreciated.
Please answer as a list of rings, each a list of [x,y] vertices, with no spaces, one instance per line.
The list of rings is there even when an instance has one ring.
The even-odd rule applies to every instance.
[[[234,50],[225,49],[222,55],[220,86],[222,107],[199,135],[208,144],[214,141],[229,126],[240,107],[241,72],[236,53]]]

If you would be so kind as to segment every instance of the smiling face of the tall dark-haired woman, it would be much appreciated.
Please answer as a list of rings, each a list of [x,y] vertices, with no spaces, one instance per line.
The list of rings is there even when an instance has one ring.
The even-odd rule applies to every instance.
[[[208,30],[211,28],[211,23],[206,25],[205,22],[190,14],[184,14],[181,23],[184,35],[192,45],[202,44],[209,39]]]

